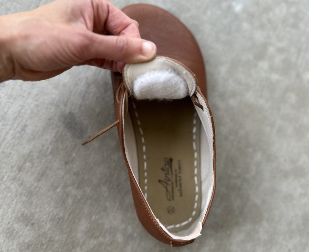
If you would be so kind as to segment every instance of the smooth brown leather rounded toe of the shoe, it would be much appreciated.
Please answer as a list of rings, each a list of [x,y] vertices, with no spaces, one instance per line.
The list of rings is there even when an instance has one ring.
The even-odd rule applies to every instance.
[[[148,4],[134,4],[122,11],[139,24],[141,37],[153,41],[157,54],[175,59],[196,75],[207,97],[206,73],[201,50],[188,28],[171,13]]]

